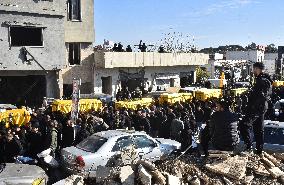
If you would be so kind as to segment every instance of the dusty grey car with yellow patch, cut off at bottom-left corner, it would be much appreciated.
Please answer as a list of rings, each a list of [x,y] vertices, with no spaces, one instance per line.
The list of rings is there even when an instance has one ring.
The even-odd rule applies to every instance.
[[[36,165],[6,163],[0,165],[0,185],[45,185],[48,177]]]

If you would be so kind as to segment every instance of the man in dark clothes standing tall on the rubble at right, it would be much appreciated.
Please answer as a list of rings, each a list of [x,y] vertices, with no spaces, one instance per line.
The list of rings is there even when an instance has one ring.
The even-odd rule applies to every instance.
[[[256,142],[256,154],[261,154],[264,143],[264,115],[268,108],[268,100],[272,92],[272,80],[268,74],[263,73],[264,65],[256,62],[253,65],[255,83],[248,96],[246,115],[239,125],[240,134],[246,144],[246,149],[250,150],[252,141],[250,138],[250,128],[253,127]]]

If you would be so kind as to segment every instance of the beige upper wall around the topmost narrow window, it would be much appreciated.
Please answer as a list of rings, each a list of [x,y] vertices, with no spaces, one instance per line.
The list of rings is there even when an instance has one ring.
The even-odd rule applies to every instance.
[[[81,0],[81,18],[81,21],[68,21],[66,16],[65,42],[94,42],[94,0]]]

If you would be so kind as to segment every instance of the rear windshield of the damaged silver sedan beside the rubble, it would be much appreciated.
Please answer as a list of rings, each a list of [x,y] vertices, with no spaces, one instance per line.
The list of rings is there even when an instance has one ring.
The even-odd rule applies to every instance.
[[[84,151],[94,153],[97,152],[106,141],[107,141],[106,138],[102,138],[99,136],[91,136],[83,140],[76,147]]]

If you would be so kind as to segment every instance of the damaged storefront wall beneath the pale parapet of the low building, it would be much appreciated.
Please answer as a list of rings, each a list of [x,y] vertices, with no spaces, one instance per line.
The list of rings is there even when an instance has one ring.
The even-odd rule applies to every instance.
[[[166,91],[170,87],[182,87],[195,82],[194,66],[113,68],[94,70],[95,93],[115,96],[119,89],[133,92]]]

